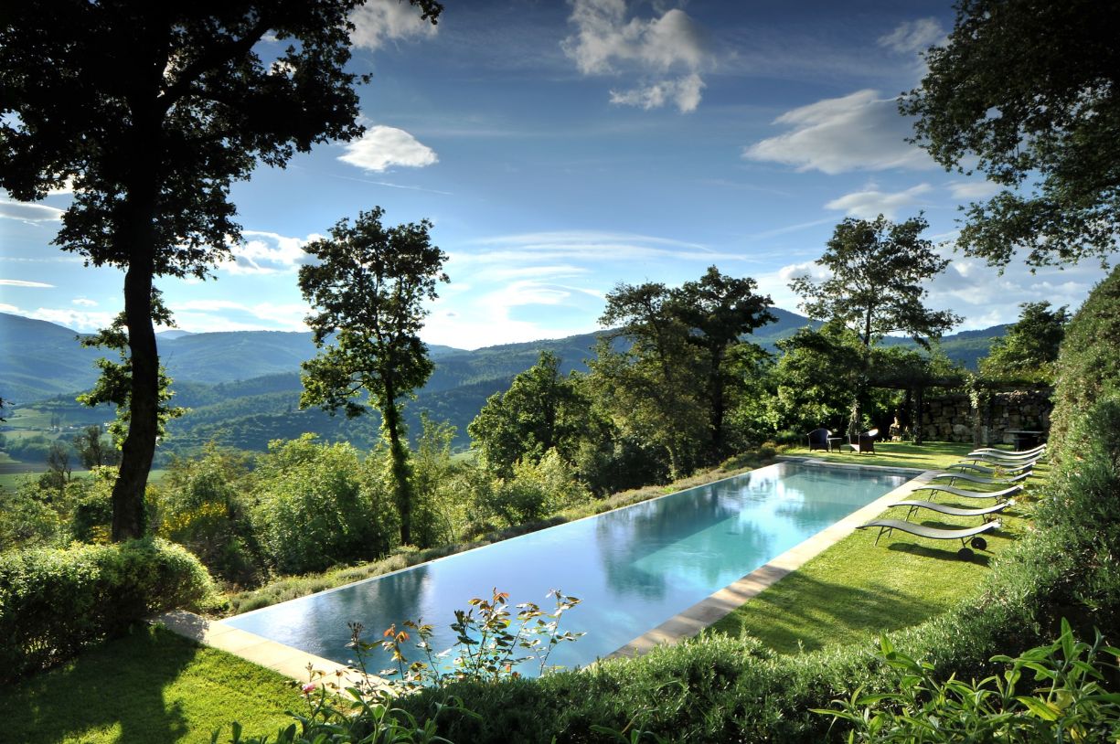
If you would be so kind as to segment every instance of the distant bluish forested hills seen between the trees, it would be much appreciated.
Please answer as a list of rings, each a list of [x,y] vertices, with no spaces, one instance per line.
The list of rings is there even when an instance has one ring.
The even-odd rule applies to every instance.
[[[754,334],[754,341],[776,351],[776,343],[797,328],[819,324],[775,308],[777,317]],[[976,368],[988,353],[992,341],[1002,336],[1005,326],[969,331],[946,336],[942,350],[953,361]],[[466,429],[486,399],[505,390],[514,375],[532,366],[542,351],[561,359],[561,371],[587,371],[594,356],[598,333],[503,344],[467,351],[431,346],[436,371],[417,399],[405,408],[412,436],[420,431],[420,415],[428,411],[436,420],[448,421],[457,430],[456,446],[468,443]],[[88,418],[74,402],[74,396],[93,384],[93,361],[104,355],[83,348],[78,334],[68,328],[0,314],[0,393],[17,404],[44,401],[43,408],[57,415],[62,425],[73,426]],[[904,340],[887,340],[892,345],[912,345]],[[348,440],[360,447],[377,438],[376,413],[355,420],[328,416],[319,410],[299,410],[299,365],[314,355],[309,333],[237,331],[227,333],[180,333],[160,335],[165,365],[174,380],[175,402],[189,411],[168,426],[168,437],[160,447],[171,453],[196,452],[207,441],[241,449],[264,449],[278,438],[298,437],[314,431],[326,439]],[[103,418],[110,418],[106,411]]]

